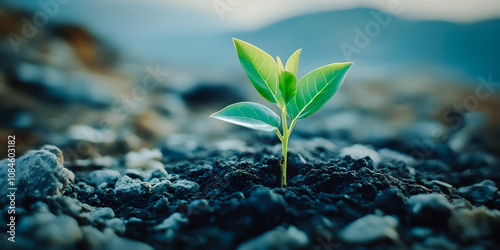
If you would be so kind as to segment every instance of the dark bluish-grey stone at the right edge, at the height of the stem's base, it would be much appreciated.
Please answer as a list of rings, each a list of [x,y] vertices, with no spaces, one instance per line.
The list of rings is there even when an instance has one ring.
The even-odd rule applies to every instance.
[[[494,200],[497,191],[498,188],[495,186],[495,182],[484,180],[471,186],[461,187],[457,190],[457,193],[462,194],[472,202],[485,203]]]

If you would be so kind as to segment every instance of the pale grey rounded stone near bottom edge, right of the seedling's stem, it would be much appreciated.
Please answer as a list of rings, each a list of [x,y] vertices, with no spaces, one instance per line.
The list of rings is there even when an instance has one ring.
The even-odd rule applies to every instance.
[[[340,233],[340,239],[349,244],[365,245],[379,241],[397,241],[399,222],[392,216],[369,214],[351,222]]]

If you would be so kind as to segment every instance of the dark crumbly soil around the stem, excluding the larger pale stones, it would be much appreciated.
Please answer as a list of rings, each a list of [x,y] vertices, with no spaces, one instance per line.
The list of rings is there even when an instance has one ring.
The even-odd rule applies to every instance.
[[[297,144],[307,141],[297,140]],[[426,245],[426,238],[439,237],[458,242],[460,248],[500,247],[498,237],[492,234],[463,242],[448,229],[447,217],[433,217],[435,211],[430,210],[430,219],[425,220],[425,215],[412,214],[407,204],[410,196],[437,193],[452,203],[460,200],[469,206],[500,209],[498,193],[493,200],[477,203],[435,182],[458,187],[488,176],[499,183],[500,171],[491,166],[459,172],[456,162],[445,165],[433,159],[409,164],[388,157],[374,166],[370,157],[340,157],[339,152],[317,145],[309,151],[291,149],[285,189],[279,187],[280,159],[273,153],[279,145],[251,144],[253,150],[248,152],[208,150],[198,152],[199,158],[195,154],[192,159],[164,161],[171,182],[193,181],[199,185],[196,190],[170,186],[161,193],[115,194],[113,185],[88,192],[81,187],[85,184],[79,183],[72,184],[65,195],[93,207],[112,208],[116,217],[129,221],[126,237],[157,249],[235,248],[277,226],[290,225],[308,235],[310,240],[304,249],[350,248],[353,245],[338,238],[339,231],[368,214],[393,215],[399,221],[396,242],[381,240],[365,245],[370,248],[426,248],[432,247]],[[83,181],[85,174],[78,176]],[[188,222],[177,229],[174,240],[166,241],[155,226],[175,212],[187,217]],[[140,220],[130,220],[132,217]],[[411,233],[417,226],[430,228],[432,233],[418,239]]]

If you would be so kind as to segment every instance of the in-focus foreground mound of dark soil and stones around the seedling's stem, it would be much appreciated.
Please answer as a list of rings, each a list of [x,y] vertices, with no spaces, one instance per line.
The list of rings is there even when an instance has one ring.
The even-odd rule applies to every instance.
[[[286,189],[279,187],[280,145],[264,135],[258,142],[142,150],[110,164],[63,163],[53,146],[30,151],[17,160],[16,243],[3,234],[2,244],[7,249],[500,246],[500,169],[482,155],[463,154],[451,164],[444,163],[450,158],[417,162],[391,149],[293,139]],[[7,172],[7,161],[1,169]],[[2,193],[4,215],[5,197]]]

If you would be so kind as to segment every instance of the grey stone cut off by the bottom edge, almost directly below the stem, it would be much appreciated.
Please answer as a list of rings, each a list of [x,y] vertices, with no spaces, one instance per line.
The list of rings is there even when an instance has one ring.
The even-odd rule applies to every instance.
[[[309,244],[309,237],[295,226],[288,229],[276,227],[256,238],[243,242],[238,246],[238,250],[285,250],[303,249]]]

